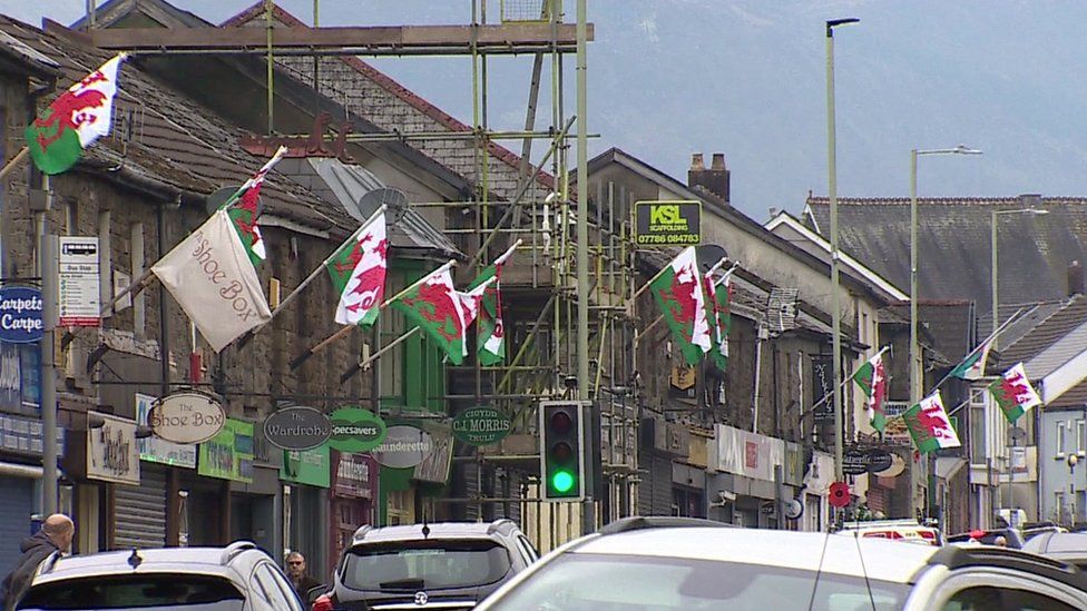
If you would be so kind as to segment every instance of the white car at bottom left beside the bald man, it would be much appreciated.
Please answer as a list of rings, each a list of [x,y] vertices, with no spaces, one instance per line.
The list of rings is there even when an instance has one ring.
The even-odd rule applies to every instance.
[[[303,611],[291,582],[248,541],[49,556],[16,609]]]

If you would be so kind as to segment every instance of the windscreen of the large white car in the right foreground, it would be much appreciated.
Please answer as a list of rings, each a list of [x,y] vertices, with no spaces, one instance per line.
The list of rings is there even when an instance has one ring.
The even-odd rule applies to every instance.
[[[909,587],[781,566],[680,558],[568,553],[496,601],[496,609],[664,611],[901,609]]]

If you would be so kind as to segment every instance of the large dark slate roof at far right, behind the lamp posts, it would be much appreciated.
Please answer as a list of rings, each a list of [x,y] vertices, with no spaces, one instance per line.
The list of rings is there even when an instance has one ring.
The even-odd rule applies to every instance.
[[[909,286],[909,198],[840,197],[838,203],[842,249],[897,286]],[[1019,196],[918,199],[919,298],[973,299],[988,312],[991,213],[1031,206],[1049,214],[999,217],[1001,304],[1065,297],[1068,264],[1087,260],[1087,198]],[[810,227],[828,235],[829,198],[810,196],[805,216]]]

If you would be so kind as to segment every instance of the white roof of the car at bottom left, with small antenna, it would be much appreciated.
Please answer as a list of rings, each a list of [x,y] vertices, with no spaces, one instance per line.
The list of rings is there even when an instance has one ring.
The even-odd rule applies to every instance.
[[[134,556],[135,554],[135,556]],[[249,542],[226,548],[168,548],[99,552],[47,560],[33,585],[68,579],[137,573],[189,573],[244,580],[249,569],[270,556]],[[138,559],[138,562],[137,562]],[[136,564],[133,568],[133,564]]]

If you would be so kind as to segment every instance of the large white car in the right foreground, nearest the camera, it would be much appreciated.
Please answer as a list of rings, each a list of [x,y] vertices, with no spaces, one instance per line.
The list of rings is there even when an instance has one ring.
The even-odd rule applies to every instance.
[[[1078,611],[1087,575],[1001,548],[635,518],[552,551],[477,609]]]

